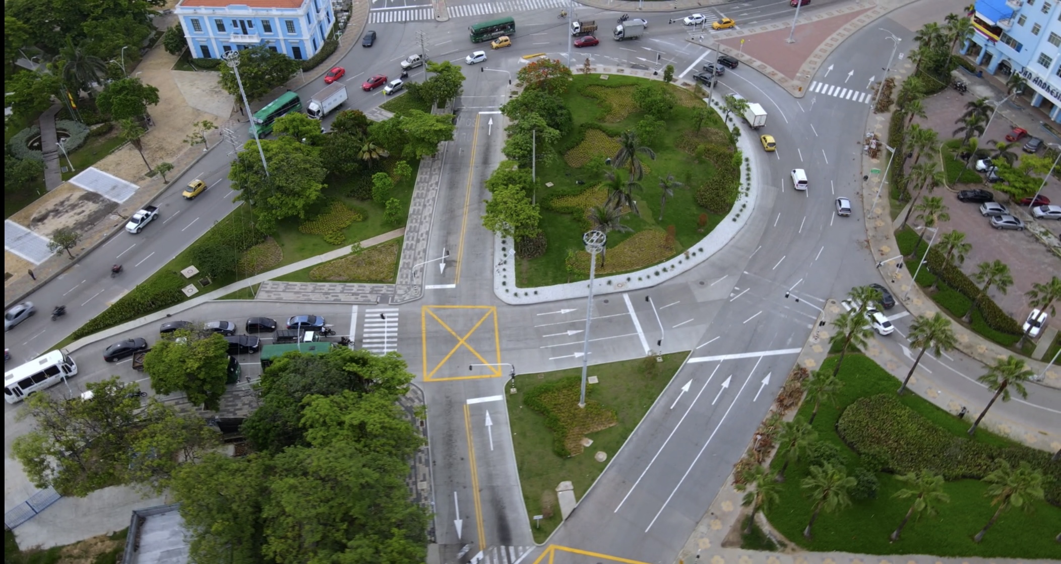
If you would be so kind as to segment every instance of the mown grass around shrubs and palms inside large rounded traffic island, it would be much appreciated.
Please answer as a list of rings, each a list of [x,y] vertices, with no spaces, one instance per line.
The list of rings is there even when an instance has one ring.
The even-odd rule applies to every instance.
[[[564,105],[571,110],[574,125],[572,131],[557,142],[557,154],[553,156],[552,162],[542,164],[539,162],[537,170],[538,179],[538,202],[542,204],[541,229],[545,232],[549,246],[542,257],[533,260],[520,259],[517,262],[517,283],[520,287],[543,286],[568,282],[568,272],[564,267],[564,260],[569,249],[576,251],[585,250],[582,245],[582,233],[587,229],[587,224],[581,218],[576,218],[570,213],[552,211],[547,202],[555,196],[569,195],[577,192],[579,186],[576,180],[585,181],[582,188],[590,189],[602,178],[594,177],[591,173],[579,164],[572,166],[567,162],[564,156],[571,148],[579,146],[579,141],[586,134],[580,127],[582,124],[599,123],[603,127],[612,131],[624,131],[633,129],[638,122],[644,119],[644,113],[640,112],[629,102],[629,94],[632,89],[645,83],[645,78],[632,76],[610,75],[607,81],[602,81],[599,75],[576,75],[571,88],[562,94]],[[694,133],[692,116],[695,108],[703,107],[703,102],[695,98],[688,90],[676,86],[668,86],[678,99],[673,113],[666,120],[666,127],[659,138],[646,143],[656,152],[656,159],[649,160],[643,155],[639,155],[645,165],[645,176],[641,180],[644,190],[634,192],[640,214],[632,212],[624,216],[623,223],[633,229],[633,232],[623,233],[612,231],[608,233],[608,248],[613,249],[624,241],[628,240],[637,232],[646,230],[663,231],[667,226],[675,227],[675,251],[667,257],[654,257],[645,264],[657,264],[662,260],[673,257],[684,249],[693,247],[713,229],[724,215],[707,214],[707,224],[701,229],[698,225],[699,216],[707,210],[700,208],[694,198],[696,189],[715,174],[714,165],[703,158],[696,158],[690,153],[678,148],[690,143],[695,147],[697,143],[705,143],[707,139],[689,141],[693,139]],[[611,110],[607,111],[602,103],[588,95],[587,88],[604,92],[616,92],[609,99]],[[618,90],[616,90],[618,89]],[[715,113],[703,123],[700,135],[708,135],[714,131],[714,139],[732,146],[729,133],[725,130],[721,118]],[[605,146],[605,143],[589,143],[590,151],[604,157],[613,157],[614,148]],[[540,148],[540,147],[539,147]],[[660,177],[669,174],[675,179],[683,182],[685,188],[676,189],[674,196],[668,198],[664,206],[663,218],[660,219],[660,204],[662,190],[659,188]],[[544,184],[552,182],[554,186],[546,188]],[[597,261],[597,275],[602,274],[599,259]],[[640,269],[640,268],[634,268]],[[608,272],[619,274],[619,272]],[[588,278],[586,276],[575,276],[572,280]]]

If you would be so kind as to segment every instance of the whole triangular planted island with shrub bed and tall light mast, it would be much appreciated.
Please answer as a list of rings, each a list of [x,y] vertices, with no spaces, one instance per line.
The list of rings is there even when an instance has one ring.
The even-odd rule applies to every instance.
[[[522,374],[506,393],[508,419],[527,522],[543,542],[562,522],[556,487],[574,486],[581,499],[666,388],[688,352],[608,363],[589,368],[596,378],[578,407],[580,368]],[[506,390],[507,391],[507,390]],[[584,446],[584,439],[592,440]],[[540,522],[533,517],[542,515]]]

